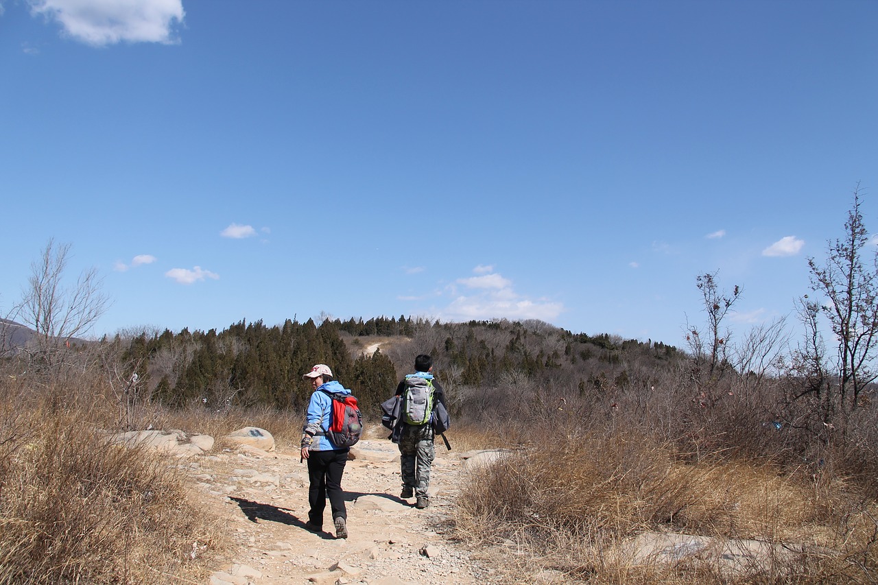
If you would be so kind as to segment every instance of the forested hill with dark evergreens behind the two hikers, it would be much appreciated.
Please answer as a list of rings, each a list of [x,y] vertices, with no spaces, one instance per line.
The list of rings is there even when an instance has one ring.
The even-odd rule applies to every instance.
[[[457,406],[476,389],[522,380],[579,394],[648,385],[651,375],[684,358],[665,343],[573,334],[543,321],[441,323],[405,316],[320,326],[240,321],[219,332],[165,330],[112,343],[126,369],[137,372],[141,392],[168,405],[301,408],[311,392],[302,374],[324,363],[367,415],[377,414],[369,405],[392,394],[419,353],[434,357],[435,374]]]

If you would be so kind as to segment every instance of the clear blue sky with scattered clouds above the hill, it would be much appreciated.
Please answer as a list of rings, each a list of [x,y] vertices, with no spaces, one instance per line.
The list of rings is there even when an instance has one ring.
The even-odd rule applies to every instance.
[[[684,345],[789,314],[854,187],[878,3],[2,0],[0,309],[49,238],[93,335],[321,313]]]

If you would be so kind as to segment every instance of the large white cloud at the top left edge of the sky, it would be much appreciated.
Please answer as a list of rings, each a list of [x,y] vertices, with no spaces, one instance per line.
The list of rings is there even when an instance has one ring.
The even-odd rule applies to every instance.
[[[64,32],[102,47],[119,42],[175,42],[183,0],[30,0],[31,12],[57,20]]]

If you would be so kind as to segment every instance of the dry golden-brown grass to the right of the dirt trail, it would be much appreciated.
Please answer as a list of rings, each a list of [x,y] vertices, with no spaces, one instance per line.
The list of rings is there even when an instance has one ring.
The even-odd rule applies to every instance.
[[[878,508],[844,481],[749,460],[690,464],[670,444],[635,431],[546,438],[474,471],[465,485],[457,528],[497,554],[509,582],[536,582],[547,568],[589,583],[878,579]],[[688,560],[637,564],[619,553],[646,532],[754,539],[804,552],[737,577]]]

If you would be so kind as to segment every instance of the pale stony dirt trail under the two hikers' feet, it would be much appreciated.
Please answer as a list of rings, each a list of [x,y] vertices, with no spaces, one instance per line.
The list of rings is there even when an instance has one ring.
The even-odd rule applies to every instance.
[[[349,538],[305,528],[308,476],[298,451],[257,458],[234,451],[184,464],[203,497],[227,518],[234,538],[229,561],[214,567],[211,585],[280,583],[469,584],[493,571],[448,538],[451,500],[464,459],[436,444],[431,505],[399,498],[399,451],[385,438],[364,439],[345,467],[342,488]],[[332,527],[327,502],[324,526]]]

